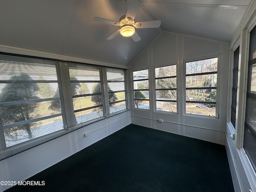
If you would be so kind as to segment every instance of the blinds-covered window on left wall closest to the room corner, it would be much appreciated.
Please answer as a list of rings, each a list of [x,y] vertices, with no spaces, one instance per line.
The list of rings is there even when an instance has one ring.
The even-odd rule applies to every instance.
[[[107,68],[110,113],[126,109],[124,70]]]

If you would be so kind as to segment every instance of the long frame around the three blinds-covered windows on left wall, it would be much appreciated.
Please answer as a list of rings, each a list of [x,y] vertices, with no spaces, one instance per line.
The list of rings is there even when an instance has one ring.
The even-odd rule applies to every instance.
[[[104,71],[104,70],[106,71],[106,68],[114,68],[114,67],[98,66],[98,65],[94,65],[94,64],[84,64],[84,63],[80,63],[80,62],[62,61],[62,60],[57,60],[57,59],[40,58],[40,57],[34,57],[34,56],[25,56],[25,55],[9,54],[9,53],[2,53],[2,52],[0,52],[0,56],[10,57],[10,62],[12,62],[12,60],[13,60],[13,62],[17,62],[19,60],[22,60],[22,62],[24,62],[24,60],[25,60],[26,62],[24,62],[24,64],[26,64],[26,63],[33,62],[33,60],[41,60],[42,62],[51,63],[52,65],[55,66],[56,76],[57,76],[56,81],[58,83],[58,90],[59,90],[58,98],[60,99],[60,107],[61,107],[61,114],[62,114],[62,121],[63,121],[63,127],[60,130],[54,131],[50,134],[40,136],[38,138],[33,138],[31,140],[21,142],[19,144],[15,144],[15,145],[9,146],[9,147],[6,147],[5,138],[4,138],[4,129],[2,128],[2,122],[0,121],[0,160],[3,160],[5,158],[8,158],[15,154],[18,154],[18,153],[28,150],[30,148],[36,147],[36,146],[43,144],[45,142],[48,142],[50,140],[56,139],[60,136],[68,134],[68,133],[70,133],[74,130],[77,130],[79,128],[82,128],[86,125],[89,125],[94,122],[98,122],[100,120],[103,120],[103,119],[109,118],[111,116],[115,116],[115,115],[118,115],[118,114],[128,111],[127,101],[126,101],[126,109],[124,109],[124,110],[117,111],[112,114],[105,113],[105,115],[100,118],[95,118],[90,121],[83,122],[81,124],[71,125],[70,122],[68,121],[68,116],[70,114],[74,113],[73,104],[69,104],[70,101],[72,103],[72,94],[70,93],[70,91],[68,92],[68,94],[65,93],[66,90],[70,89],[70,87],[71,87],[68,63],[83,64],[84,66],[89,66],[89,67],[94,66],[94,67],[100,68],[101,69],[100,70],[100,80],[102,82],[102,87],[104,87],[103,84],[107,84],[107,81],[104,80],[104,76],[106,76],[106,74],[105,75],[102,74],[102,71]],[[124,72],[124,86],[126,88],[127,87],[126,76],[125,76],[126,69],[124,69],[124,68],[114,68],[114,69],[122,70]],[[68,78],[66,76],[68,76]],[[105,87],[104,87],[104,92],[108,93],[108,90],[106,90]],[[104,92],[102,90],[102,94],[105,94]],[[127,98],[126,89],[125,89],[124,94],[125,94],[125,97]],[[108,94],[107,94],[107,96],[108,96]],[[102,96],[102,100],[103,100],[103,96]],[[108,105],[108,102],[102,101],[102,105],[103,105],[103,107],[105,107]],[[53,116],[56,116],[56,115],[53,115]]]

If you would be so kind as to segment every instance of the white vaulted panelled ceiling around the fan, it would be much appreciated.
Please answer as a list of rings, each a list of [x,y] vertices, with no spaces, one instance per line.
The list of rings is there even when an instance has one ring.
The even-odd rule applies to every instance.
[[[135,22],[161,20],[160,28],[136,29],[141,40],[118,35],[94,17],[119,21],[124,0],[1,0],[0,44],[127,66],[162,31],[230,42],[250,0],[139,0]]]

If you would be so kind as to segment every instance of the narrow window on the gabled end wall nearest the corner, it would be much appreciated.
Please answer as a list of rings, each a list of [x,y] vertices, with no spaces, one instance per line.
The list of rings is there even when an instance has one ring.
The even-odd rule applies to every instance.
[[[133,72],[134,107],[140,109],[149,108],[148,70]]]

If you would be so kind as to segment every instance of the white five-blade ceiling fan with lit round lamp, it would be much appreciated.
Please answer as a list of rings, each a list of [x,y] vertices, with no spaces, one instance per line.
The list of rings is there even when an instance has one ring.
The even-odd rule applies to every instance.
[[[127,2],[127,0],[124,0],[124,2]],[[107,40],[112,40],[113,38],[115,38],[116,36],[121,34],[124,37],[132,37],[132,39],[135,42],[137,42],[137,41],[141,40],[141,38],[136,33],[135,28],[158,28],[161,25],[160,20],[144,21],[144,22],[136,22],[135,23],[134,18],[140,8],[140,5],[141,5],[141,3],[138,0],[130,0],[128,3],[126,15],[123,15],[122,17],[120,17],[119,22],[100,18],[100,17],[94,17],[93,20],[96,22],[121,26],[121,28],[118,29],[116,32],[114,32],[112,35],[110,35],[107,38]]]

